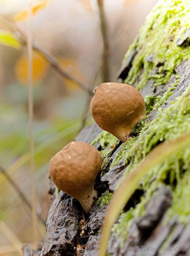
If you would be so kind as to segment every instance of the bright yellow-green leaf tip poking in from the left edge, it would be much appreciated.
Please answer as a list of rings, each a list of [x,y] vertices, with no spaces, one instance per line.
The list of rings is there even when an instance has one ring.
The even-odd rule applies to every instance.
[[[20,49],[21,44],[14,35],[6,30],[0,30],[0,44]]]

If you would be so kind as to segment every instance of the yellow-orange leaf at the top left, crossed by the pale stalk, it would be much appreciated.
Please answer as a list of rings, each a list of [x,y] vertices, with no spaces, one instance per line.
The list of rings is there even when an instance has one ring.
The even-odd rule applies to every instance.
[[[37,4],[35,4],[32,8],[32,15],[34,16],[37,11],[45,8],[48,4],[49,4],[48,0],[38,1]],[[13,20],[14,22],[16,22],[16,21],[26,20],[27,18],[28,18],[28,9],[26,8],[21,10],[20,12],[17,12],[13,17]]]

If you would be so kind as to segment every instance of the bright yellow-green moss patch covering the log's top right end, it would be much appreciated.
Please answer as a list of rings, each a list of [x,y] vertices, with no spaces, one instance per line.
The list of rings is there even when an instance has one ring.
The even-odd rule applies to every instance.
[[[190,28],[190,5],[188,0],[159,0],[145,24],[140,30],[138,40],[130,46],[124,61],[130,52],[136,48],[137,54],[133,60],[125,83],[133,84],[138,76],[140,90],[148,79],[154,80],[154,85],[166,84],[175,74],[175,66],[182,60],[190,58],[190,46],[185,44],[180,47],[176,44],[183,37],[186,28]],[[148,62],[147,57],[153,56],[153,61]],[[141,74],[143,70],[143,73]]]

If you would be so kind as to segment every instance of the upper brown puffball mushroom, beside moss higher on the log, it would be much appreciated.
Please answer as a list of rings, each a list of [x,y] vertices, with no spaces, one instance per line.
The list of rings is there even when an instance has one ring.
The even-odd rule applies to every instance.
[[[129,138],[133,126],[146,115],[143,96],[129,84],[100,84],[90,108],[99,127],[121,141]]]

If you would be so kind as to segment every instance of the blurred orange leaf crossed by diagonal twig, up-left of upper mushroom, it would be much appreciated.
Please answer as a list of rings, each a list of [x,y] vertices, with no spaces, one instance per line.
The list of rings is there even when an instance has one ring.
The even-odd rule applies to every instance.
[[[65,73],[69,73],[72,77],[79,78],[80,81],[85,81],[85,78],[81,75],[77,61],[75,59],[69,59],[69,58],[58,58],[59,63],[65,71]],[[63,78],[63,83],[67,87],[69,91],[75,91],[75,90],[80,90],[81,88],[78,86],[77,83],[75,83],[73,80],[64,77]]]

